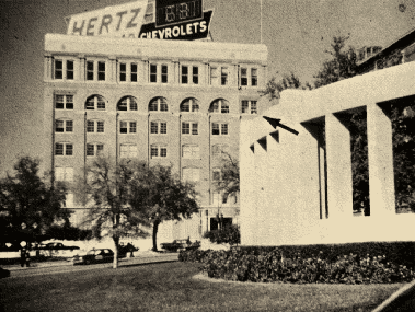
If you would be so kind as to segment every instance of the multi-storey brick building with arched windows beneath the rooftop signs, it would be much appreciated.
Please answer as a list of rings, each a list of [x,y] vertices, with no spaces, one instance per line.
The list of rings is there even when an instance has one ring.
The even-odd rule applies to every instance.
[[[154,4],[146,2],[142,28],[151,27]],[[102,21],[109,21],[107,15]],[[224,222],[237,223],[239,199],[222,198],[212,184],[220,178],[221,151],[239,157],[241,119],[267,108],[258,105],[267,48],[150,39],[151,31],[139,38],[84,36],[82,31],[94,31],[91,20],[101,18],[70,23],[72,31],[84,26],[79,34],[45,36],[45,162],[55,178],[72,182],[99,154],[172,164],[182,180],[196,182],[201,208],[191,220],[161,224],[161,235],[200,240],[218,227],[218,211]],[[66,207],[80,223],[83,209],[73,195]]]

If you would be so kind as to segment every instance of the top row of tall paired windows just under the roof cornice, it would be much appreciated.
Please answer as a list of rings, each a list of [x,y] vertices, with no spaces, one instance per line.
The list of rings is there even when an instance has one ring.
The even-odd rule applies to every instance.
[[[87,81],[105,81],[106,62],[100,60],[88,60],[85,63]],[[180,69],[181,84],[199,84],[199,67],[181,65]],[[209,84],[210,85],[229,85],[231,71],[229,67],[210,66]],[[257,68],[241,67],[239,70],[239,85],[257,86],[258,70]],[[118,81],[119,82],[138,82],[138,63],[137,62],[118,62]],[[74,80],[74,61],[55,59],[54,78],[56,80]],[[149,78],[150,83],[169,83],[169,66],[150,63]]]

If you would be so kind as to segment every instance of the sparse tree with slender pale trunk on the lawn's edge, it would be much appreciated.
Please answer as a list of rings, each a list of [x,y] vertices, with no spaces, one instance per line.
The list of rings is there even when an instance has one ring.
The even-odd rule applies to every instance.
[[[74,185],[77,201],[89,208],[84,224],[91,226],[92,236],[109,236],[114,242],[113,268],[118,267],[120,238],[148,235],[147,211],[139,203],[131,206],[134,176],[145,167],[145,163],[114,165],[109,159],[97,158]]]

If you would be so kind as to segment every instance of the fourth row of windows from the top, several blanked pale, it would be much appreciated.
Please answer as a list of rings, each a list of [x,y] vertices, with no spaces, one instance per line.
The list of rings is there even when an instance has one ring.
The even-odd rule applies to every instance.
[[[87,145],[87,155],[96,157],[104,151],[103,143],[88,143]],[[219,157],[222,153],[228,152],[228,146],[216,145],[212,147],[212,155]],[[73,155],[73,145],[70,142],[58,142],[55,143],[55,155]],[[138,148],[137,145],[126,143],[120,145],[119,148],[120,158],[137,158]],[[150,147],[151,158],[166,158],[168,148],[163,145],[152,145]],[[200,148],[197,145],[185,145],[182,147],[182,158],[184,159],[200,159]]]

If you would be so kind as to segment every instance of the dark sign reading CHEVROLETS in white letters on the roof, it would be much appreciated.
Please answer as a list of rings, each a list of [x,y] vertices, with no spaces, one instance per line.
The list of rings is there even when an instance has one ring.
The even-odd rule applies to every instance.
[[[157,27],[155,23],[145,24],[141,27],[140,38],[180,41],[206,38],[209,35],[209,25],[212,14],[212,10],[205,11],[201,20],[193,20],[162,27]]]

